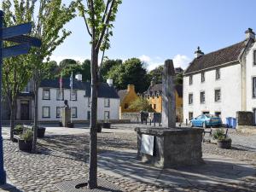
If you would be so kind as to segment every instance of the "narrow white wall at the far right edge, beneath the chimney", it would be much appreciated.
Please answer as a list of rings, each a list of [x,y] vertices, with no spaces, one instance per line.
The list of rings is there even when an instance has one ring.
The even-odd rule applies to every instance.
[[[253,50],[256,44],[248,50],[246,55],[246,73],[247,73],[247,111],[253,111],[256,108],[256,98],[253,98],[253,77],[256,77],[256,66],[253,65]]]

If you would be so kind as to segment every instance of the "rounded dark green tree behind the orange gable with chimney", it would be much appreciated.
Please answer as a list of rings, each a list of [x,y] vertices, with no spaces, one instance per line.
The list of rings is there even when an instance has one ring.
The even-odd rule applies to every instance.
[[[127,84],[134,84],[137,92],[143,92],[149,86],[147,70],[137,58],[128,59],[123,64],[112,67],[108,78],[113,79],[113,84],[119,90],[126,89]]]

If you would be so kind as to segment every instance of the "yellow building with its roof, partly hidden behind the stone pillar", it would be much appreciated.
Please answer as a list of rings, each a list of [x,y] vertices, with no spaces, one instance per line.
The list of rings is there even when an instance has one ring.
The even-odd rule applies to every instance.
[[[177,121],[180,121],[183,118],[183,85],[176,85],[175,90]],[[151,83],[144,96],[155,112],[162,112],[162,84]]]

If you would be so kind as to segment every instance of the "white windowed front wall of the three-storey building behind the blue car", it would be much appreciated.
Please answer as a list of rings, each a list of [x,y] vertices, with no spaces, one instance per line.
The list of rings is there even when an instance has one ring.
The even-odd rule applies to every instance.
[[[241,65],[236,64],[220,68],[220,79],[215,79],[216,69],[205,72],[205,82],[201,83],[201,73],[193,75],[193,84],[189,85],[189,76],[183,79],[183,121],[189,120],[189,112],[194,117],[203,111],[211,114],[221,112],[225,123],[226,117],[236,117],[241,110]],[[214,90],[221,89],[221,102],[215,102]],[[201,104],[200,92],[205,90],[206,102]],[[193,104],[189,105],[189,93],[193,93]]]

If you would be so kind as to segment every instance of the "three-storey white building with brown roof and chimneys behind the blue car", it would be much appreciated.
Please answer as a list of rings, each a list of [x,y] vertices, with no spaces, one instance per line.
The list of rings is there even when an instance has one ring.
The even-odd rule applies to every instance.
[[[225,123],[237,111],[256,117],[256,43],[250,28],[237,44],[207,55],[198,48],[183,77],[184,122],[211,113]]]

